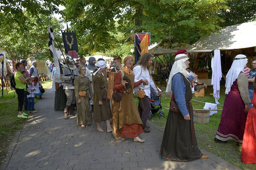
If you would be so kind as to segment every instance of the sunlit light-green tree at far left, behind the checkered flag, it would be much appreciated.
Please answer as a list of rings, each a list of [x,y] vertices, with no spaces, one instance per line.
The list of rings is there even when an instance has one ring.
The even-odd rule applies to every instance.
[[[37,23],[38,17],[41,20],[39,23]],[[0,34],[1,48],[7,52],[10,59],[19,60],[33,57],[46,60],[51,58],[48,47],[48,22],[51,23],[59,40],[61,40],[61,35],[58,31],[63,27],[62,22],[43,15],[38,15],[38,17],[28,17],[31,24],[27,26],[28,31],[23,31],[22,34],[18,33],[21,29],[18,23],[12,23],[11,26],[8,26],[11,29],[7,33]],[[6,29],[5,26],[2,26],[0,32]]]

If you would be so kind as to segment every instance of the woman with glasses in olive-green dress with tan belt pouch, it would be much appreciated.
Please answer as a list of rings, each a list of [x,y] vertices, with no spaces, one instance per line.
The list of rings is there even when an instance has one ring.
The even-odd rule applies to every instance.
[[[85,127],[91,125],[89,94],[92,96],[91,82],[86,74],[85,65],[79,66],[79,76],[75,79],[75,95],[77,102],[77,125]]]

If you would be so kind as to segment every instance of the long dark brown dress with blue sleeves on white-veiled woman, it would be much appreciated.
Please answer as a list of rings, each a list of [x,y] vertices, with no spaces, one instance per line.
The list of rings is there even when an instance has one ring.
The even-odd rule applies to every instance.
[[[199,159],[203,154],[197,146],[194,130],[191,85],[182,74],[179,74],[177,73],[173,77],[173,95],[177,94],[175,92],[177,88],[181,89],[182,93],[177,94],[176,97],[178,95],[185,95],[184,102],[186,103],[191,120],[185,120],[181,113],[169,111],[160,155],[165,161],[194,161]],[[177,83],[174,83],[175,81]],[[184,85],[186,86],[185,89]]]

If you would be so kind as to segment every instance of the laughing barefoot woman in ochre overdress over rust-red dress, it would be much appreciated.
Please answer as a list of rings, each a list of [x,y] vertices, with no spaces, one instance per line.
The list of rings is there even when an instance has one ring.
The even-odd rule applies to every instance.
[[[114,90],[123,93],[121,101],[114,101],[113,109],[113,136],[122,139],[121,136],[133,138],[134,142],[144,142],[138,135],[143,133],[142,121],[138,113],[137,105],[133,98],[133,89],[141,83],[148,84],[146,79],[134,83],[134,74],[131,70],[133,59],[131,56],[124,58],[125,66],[115,75]],[[123,75],[122,75],[123,74]],[[129,78],[129,82],[123,77]],[[127,84],[130,88],[126,88]]]

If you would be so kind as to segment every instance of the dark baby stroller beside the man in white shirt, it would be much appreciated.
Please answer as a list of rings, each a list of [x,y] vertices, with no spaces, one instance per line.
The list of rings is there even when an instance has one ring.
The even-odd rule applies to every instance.
[[[165,113],[163,111],[162,105],[161,105],[161,97],[156,95],[156,92],[150,87],[150,99],[149,99],[151,109],[150,113],[148,115],[148,119],[152,119],[155,113],[158,113],[159,119],[161,117],[165,116]]]

